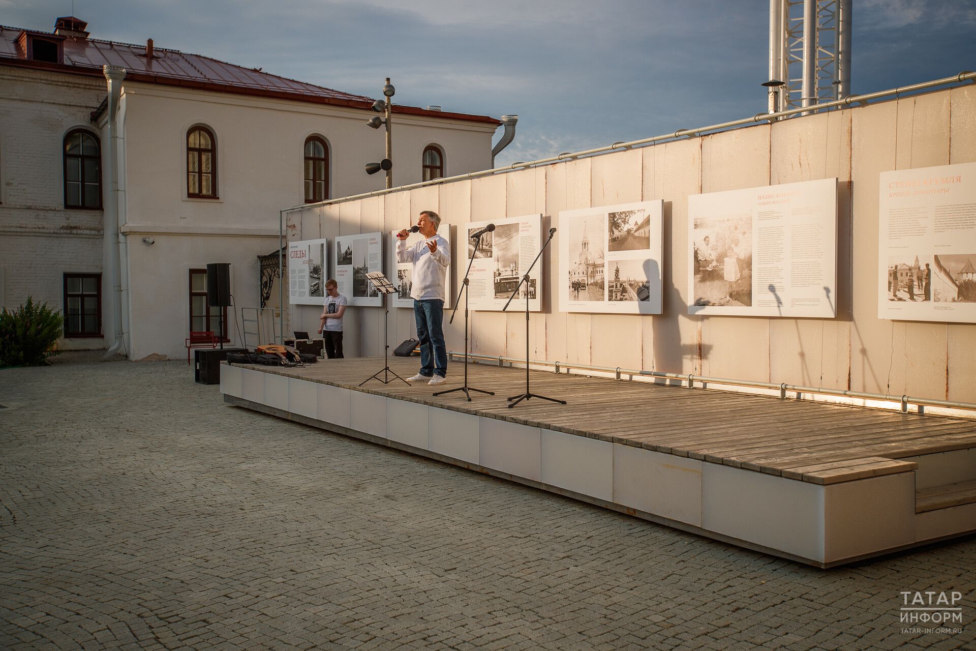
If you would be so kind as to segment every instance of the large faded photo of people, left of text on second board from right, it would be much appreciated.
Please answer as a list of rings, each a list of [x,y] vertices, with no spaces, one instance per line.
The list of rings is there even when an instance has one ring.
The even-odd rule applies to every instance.
[[[694,305],[752,305],[752,215],[698,218]]]

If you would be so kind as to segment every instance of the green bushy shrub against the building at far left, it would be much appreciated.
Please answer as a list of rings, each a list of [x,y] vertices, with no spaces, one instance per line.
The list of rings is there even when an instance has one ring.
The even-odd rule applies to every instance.
[[[0,367],[43,366],[51,355],[58,354],[55,343],[61,337],[64,319],[61,312],[48,304],[27,303],[14,311],[4,307],[0,312]]]

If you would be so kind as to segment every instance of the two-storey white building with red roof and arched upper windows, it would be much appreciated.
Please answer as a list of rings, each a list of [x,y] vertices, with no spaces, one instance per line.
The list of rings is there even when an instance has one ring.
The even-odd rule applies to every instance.
[[[259,306],[283,206],[384,184],[363,170],[384,157],[369,98],[58,25],[0,29],[0,304],[64,311],[62,349],[113,346],[118,301],[121,352],[184,357],[190,331],[219,328],[206,264],[230,263],[235,307]],[[125,71],[117,172],[102,63]],[[491,167],[494,118],[394,105],[393,120],[397,184]],[[235,311],[227,346],[241,344]]]

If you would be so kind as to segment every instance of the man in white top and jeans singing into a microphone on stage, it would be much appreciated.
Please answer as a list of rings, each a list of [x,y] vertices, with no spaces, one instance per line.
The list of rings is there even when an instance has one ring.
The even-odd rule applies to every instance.
[[[451,265],[451,251],[447,240],[437,234],[440,217],[432,210],[425,210],[417,220],[424,241],[407,247],[410,230],[396,233],[396,259],[401,263],[414,264],[414,286],[410,296],[414,299],[414,316],[417,319],[417,337],[421,342],[421,372],[408,382],[424,382],[439,385],[447,376],[447,346],[444,345],[444,281],[447,267]]]

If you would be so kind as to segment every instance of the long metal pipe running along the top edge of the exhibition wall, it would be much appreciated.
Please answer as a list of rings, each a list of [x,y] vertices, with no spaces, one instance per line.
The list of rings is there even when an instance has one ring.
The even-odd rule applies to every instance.
[[[933,79],[932,81],[923,81],[917,84],[911,84],[909,86],[901,86],[898,88],[892,88],[886,91],[877,91],[874,93],[866,93],[864,95],[851,95],[841,100],[834,100],[833,102],[822,102],[813,104],[810,106],[799,106],[796,108],[788,108],[781,111],[775,111],[771,113],[756,113],[752,117],[741,118],[738,120],[731,120],[729,122],[720,122],[718,124],[712,124],[707,127],[697,127],[695,129],[678,129],[671,134],[665,134],[662,136],[654,136],[652,138],[642,138],[636,141],[630,142],[614,142],[613,144],[594,147],[592,149],[584,149],[583,151],[576,152],[563,152],[556,156],[549,156],[548,158],[540,158],[538,160],[512,163],[505,167],[496,167],[490,170],[480,170],[478,172],[468,172],[467,174],[459,174],[453,177],[446,177],[443,179],[434,179],[432,181],[422,181],[418,183],[407,183],[405,185],[398,185],[396,187],[389,187],[379,190],[372,190],[370,192],[362,192],[360,194],[350,194],[345,197],[338,197],[336,199],[326,199],[325,201],[319,201],[317,203],[305,203],[298,206],[292,206],[291,208],[285,208],[282,213],[290,213],[296,210],[305,210],[308,208],[318,208],[322,206],[330,206],[338,203],[345,203],[346,201],[355,201],[357,199],[367,199],[369,197],[380,196],[382,194],[389,194],[390,192],[398,192],[401,190],[415,189],[418,187],[425,187],[427,185],[436,185],[439,183],[454,183],[456,181],[465,181],[468,179],[477,179],[480,177],[488,177],[495,174],[502,174],[505,172],[511,172],[517,169],[528,169],[530,167],[538,167],[540,165],[548,165],[549,163],[558,163],[566,160],[573,160],[580,158],[581,156],[590,156],[598,153],[607,153],[615,149],[630,149],[636,146],[642,146],[647,144],[655,144],[657,142],[671,141],[684,136],[700,136],[707,132],[721,131],[722,129],[730,129],[732,127],[741,127],[743,125],[752,124],[756,122],[763,121],[775,121],[779,118],[789,117],[797,113],[811,113],[816,111],[825,110],[828,108],[834,108],[835,106],[849,106],[852,103],[865,103],[871,100],[877,100],[879,98],[885,98],[889,96],[894,96],[895,98],[900,97],[905,93],[912,93],[915,91],[922,91],[929,88],[934,88],[936,86],[945,86],[948,84],[961,84],[966,81],[976,81],[976,72],[970,72],[968,70],[959,72],[952,77],[943,77],[942,79]]]

